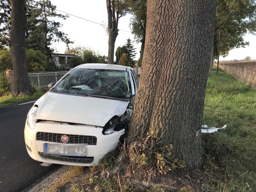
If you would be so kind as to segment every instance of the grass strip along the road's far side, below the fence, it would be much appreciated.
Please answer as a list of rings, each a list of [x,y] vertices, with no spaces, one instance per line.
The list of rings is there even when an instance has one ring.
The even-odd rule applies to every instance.
[[[29,100],[33,100],[33,99],[38,99],[39,97],[41,97],[42,95],[44,95],[44,93],[46,93],[46,90],[42,90],[42,89],[36,89],[34,91],[34,94],[31,96],[13,96],[13,95],[7,95],[7,96],[2,96],[0,97],[0,107],[2,106],[6,106],[6,105],[11,105],[11,104],[16,104],[16,103],[22,103],[22,102],[26,102]]]

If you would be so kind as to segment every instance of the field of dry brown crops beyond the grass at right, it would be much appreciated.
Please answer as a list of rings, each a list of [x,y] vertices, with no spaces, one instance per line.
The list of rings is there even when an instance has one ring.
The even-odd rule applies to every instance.
[[[219,63],[219,67],[239,81],[256,90],[256,60]]]

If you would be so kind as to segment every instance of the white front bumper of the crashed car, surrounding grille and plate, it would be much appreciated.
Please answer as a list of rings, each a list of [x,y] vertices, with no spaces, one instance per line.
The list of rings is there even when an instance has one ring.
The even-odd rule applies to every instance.
[[[74,161],[74,159],[69,157],[65,158],[65,161],[59,160],[58,156],[54,158],[46,158],[42,153],[44,152],[44,143],[55,143],[47,141],[36,140],[37,132],[47,132],[47,133],[61,133],[61,134],[72,134],[72,135],[85,135],[85,136],[95,136],[97,137],[96,145],[82,144],[87,148],[87,157],[92,157],[93,161],[91,163],[81,163],[81,161]],[[54,121],[44,121],[35,123],[35,128],[31,130],[26,122],[24,136],[26,148],[29,156],[37,161],[46,163],[56,163],[64,165],[75,165],[75,166],[94,166],[99,163],[99,161],[107,154],[109,151],[115,150],[118,145],[119,138],[124,134],[125,130],[120,130],[109,135],[102,134],[102,127],[92,126],[92,125],[69,125],[68,123],[58,123]],[[62,143],[61,145],[65,145]],[[67,160],[69,159],[69,160]]]

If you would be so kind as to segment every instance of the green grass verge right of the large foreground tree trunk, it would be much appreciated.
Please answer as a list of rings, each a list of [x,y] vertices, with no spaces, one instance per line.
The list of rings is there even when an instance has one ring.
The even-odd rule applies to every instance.
[[[212,68],[203,124],[227,128],[203,135],[205,191],[256,191],[256,91]]]

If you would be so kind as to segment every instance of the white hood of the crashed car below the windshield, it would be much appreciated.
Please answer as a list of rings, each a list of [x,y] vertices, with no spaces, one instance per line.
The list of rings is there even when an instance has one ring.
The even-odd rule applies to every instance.
[[[128,104],[129,101],[116,99],[47,92],[35,102],[36,118],[105,126],[113,116],[123,115]]]

